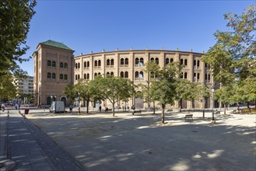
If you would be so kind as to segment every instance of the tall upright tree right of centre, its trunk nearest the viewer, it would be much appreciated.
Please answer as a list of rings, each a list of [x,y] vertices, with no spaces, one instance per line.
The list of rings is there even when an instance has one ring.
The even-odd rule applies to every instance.
[[[162,124],[164,124],[164,110],[167,104],[174,105],[177,95],[177,75],[179,73],[179,64],[170,63],[166,67],[160,68],[155,62],[146,64],[146,71],[151,73],[151,86],[149,93],[153,100],[160,103],[162,107]]]

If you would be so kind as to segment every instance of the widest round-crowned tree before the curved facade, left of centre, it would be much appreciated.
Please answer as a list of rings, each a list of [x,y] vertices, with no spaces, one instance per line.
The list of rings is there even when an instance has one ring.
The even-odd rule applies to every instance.
[[[108,99],[112,104],[113,117],[114,104],[117,103],[118,100],[130,98],[134,92],[131,80],[114,77],[113,75],[107,75],[105,78],[97,76],[91,82],[93,82],[92,84],[96,87],[100,96],[102,96],[103,99]]]

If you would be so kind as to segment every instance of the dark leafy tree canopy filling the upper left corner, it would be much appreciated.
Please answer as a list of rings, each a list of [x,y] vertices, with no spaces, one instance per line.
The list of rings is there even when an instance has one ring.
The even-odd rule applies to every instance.
[[[26,72],[19,68],[18,63],[30,59],[21,56],[29,49],[26,46],[26,37],[30,29],[30,19],[35,14],[33,7],[37,2],[3,0],[0,3],[0,75],[8,72],[25,75]]]

